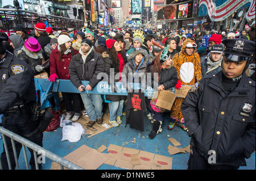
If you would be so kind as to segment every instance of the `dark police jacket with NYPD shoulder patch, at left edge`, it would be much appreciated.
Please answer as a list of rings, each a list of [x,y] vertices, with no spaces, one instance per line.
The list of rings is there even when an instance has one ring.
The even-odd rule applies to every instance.
[[[0,114],[13,106],[36,102],[34,73],[26,62],[7,52],[0,78]]]

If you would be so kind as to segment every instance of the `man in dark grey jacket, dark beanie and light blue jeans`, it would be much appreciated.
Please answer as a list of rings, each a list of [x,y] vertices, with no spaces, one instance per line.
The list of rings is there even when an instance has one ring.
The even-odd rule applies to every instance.
[[[73,85],[82,91],[90,91],[100,81],[98,73],[104,72],[104,60],[100,54],[93,51],[92,41],[84,39],[81,42],[79,53],[73,56],[69,65],[69,77]],[[85,87],[81,81],[89,81]],[[100,94],[81,94],[82,102],[89,116],[88,126],[102,123],[102,98]]]

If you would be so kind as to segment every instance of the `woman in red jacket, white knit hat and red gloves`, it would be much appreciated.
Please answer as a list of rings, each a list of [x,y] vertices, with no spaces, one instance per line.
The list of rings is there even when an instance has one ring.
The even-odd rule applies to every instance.
[[[72,57],[77,51],[71,47],[71,38],[68,35],[60,35],[58,38],[57,48],[52,50],[50,60],[50,76],[49,81],[54,82],[56,78],[69,79],[68,67]],[[71,92],[62,92],[67,115],[66,120],[72,117],[74,107],[75,114],[72,121],[77,121],[81,113],[80,94]],[[73,107],[72,107],[73,101]]]

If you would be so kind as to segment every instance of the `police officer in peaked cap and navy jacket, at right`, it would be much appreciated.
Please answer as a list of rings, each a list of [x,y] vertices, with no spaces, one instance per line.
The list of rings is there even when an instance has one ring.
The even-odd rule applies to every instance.
[[[245,74],[255,42],[223,43],[222,70],[197,82],[181,105],[191,137],[191,170],[238,169],[255,151],[255,82]]]

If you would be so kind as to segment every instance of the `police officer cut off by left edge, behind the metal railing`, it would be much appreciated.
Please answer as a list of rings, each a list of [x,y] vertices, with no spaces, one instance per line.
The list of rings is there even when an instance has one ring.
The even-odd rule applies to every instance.
[[[14,58],[2,43],[0,37],[0,114],[2,125],[9,131],[23,136],[27,140],[43,146],[43,133],[38,131],[39,121],[32,121],[31,109],[36,103],[34,74],[31,67],[24,61]],[[11,169],[15,169],[15,159],[11,140],[6,137],[10,154]],[[15,141],[17,155],[22,145]],[[31,169],[36,169],[33,150],[31,153]],[[1,154],[3,169],[9,169],[6,151]],[[39,169],[42,165],[39,165]]]

